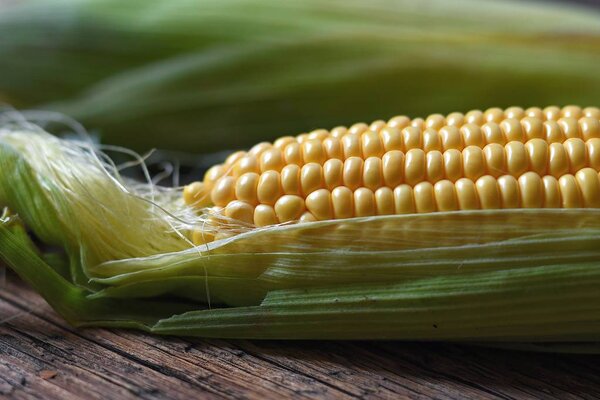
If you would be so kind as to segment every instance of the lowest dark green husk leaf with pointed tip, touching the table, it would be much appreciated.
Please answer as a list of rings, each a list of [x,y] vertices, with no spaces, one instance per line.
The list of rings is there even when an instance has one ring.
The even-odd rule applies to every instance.
[[[192,311],[153,331],[209,337],[593,341],[598,263],[276,291],[260,306]]]

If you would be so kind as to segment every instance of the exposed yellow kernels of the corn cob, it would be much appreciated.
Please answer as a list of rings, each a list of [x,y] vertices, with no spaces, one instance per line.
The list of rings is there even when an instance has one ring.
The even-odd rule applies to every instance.
[[[236,152],[184,200],[246,226],[465,209],[600,207],[600,109],[491,108],[354,124]],[[214,235],[195,235],[204,243]],[[208,238],[208,240],[207,240]]]

